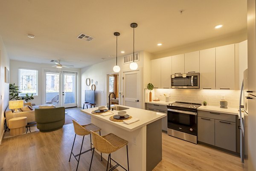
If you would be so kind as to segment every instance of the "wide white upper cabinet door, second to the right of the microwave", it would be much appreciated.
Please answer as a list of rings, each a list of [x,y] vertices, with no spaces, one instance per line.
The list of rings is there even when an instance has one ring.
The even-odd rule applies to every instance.
[[[235,44],[216,47],[216,89],[235,89]]]

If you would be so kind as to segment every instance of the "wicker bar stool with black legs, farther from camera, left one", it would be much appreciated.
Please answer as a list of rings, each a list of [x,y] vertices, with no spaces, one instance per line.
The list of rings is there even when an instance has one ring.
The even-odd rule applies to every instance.
[[[76,155],[73,154],[73,147],[74,147],[74,144],[75,144],[76,135],[75,135],[73,146],[72,146],[71,153],[70,153],[70,159],[71,159],[71,155],[73,155],[75,157],[76,161],[77,161],[77,166],[76,166],[76,171],[77,171],[81,154],[84,154],[84,153],[87,153],[88,151],[92,151],[93,150],[93,148],[92,148],[93,144],[92,144],[92,138],[91,138],[90,130],[93,130],[94,132],[99,131],[99,135],[100,135],[101,128],[97,127],[94,124],[80,125],[79,123],[77,123],[73,119],[72,119],[72,121],[73,121],[74,130],[75,130],[76,135],[83,136],[83,141],[82,141],[82,144],[81,144],[80,153],[76,154]],[[81,152],[82,151],[82,147],[83,147],[83,142],[84,142],[84,136],[88,135],[88,134],[90,134],[90,149],[87,150],[87,151]],[[79,156],[79,158],[77,159],[76,157],[78,157],[78,156]],[[69,162],[70,162],[70,159],[69,159]],[[102,155],[101,155],[101,160],[102,160]]]

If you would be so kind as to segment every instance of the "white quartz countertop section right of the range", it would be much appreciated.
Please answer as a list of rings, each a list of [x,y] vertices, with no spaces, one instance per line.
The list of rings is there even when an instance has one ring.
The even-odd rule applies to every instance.
[[[209,111],[209,112],[220,112],[220,113],[226,113],[226,114],[231,114],[231,115],[238,115],[239,114],[239,109],[236,108],[220,108],[217,106],[200,106],[198,107],[198,110],[204,110],[204,111]]]

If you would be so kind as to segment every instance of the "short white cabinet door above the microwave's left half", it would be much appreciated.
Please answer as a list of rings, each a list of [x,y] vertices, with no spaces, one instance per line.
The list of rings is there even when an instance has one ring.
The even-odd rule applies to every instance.
[[[172,74],[184,73],[184,54],[172,56]]]

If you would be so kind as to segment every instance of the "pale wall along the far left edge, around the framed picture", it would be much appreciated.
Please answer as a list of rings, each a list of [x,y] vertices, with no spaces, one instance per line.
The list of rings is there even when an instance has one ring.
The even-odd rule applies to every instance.
[[[4,131],[4,111],[9,102],[9,84],[5,83],[5,67],[10,71],[9,57],[3,44],[2,37],[0,36],[0,144]]]

